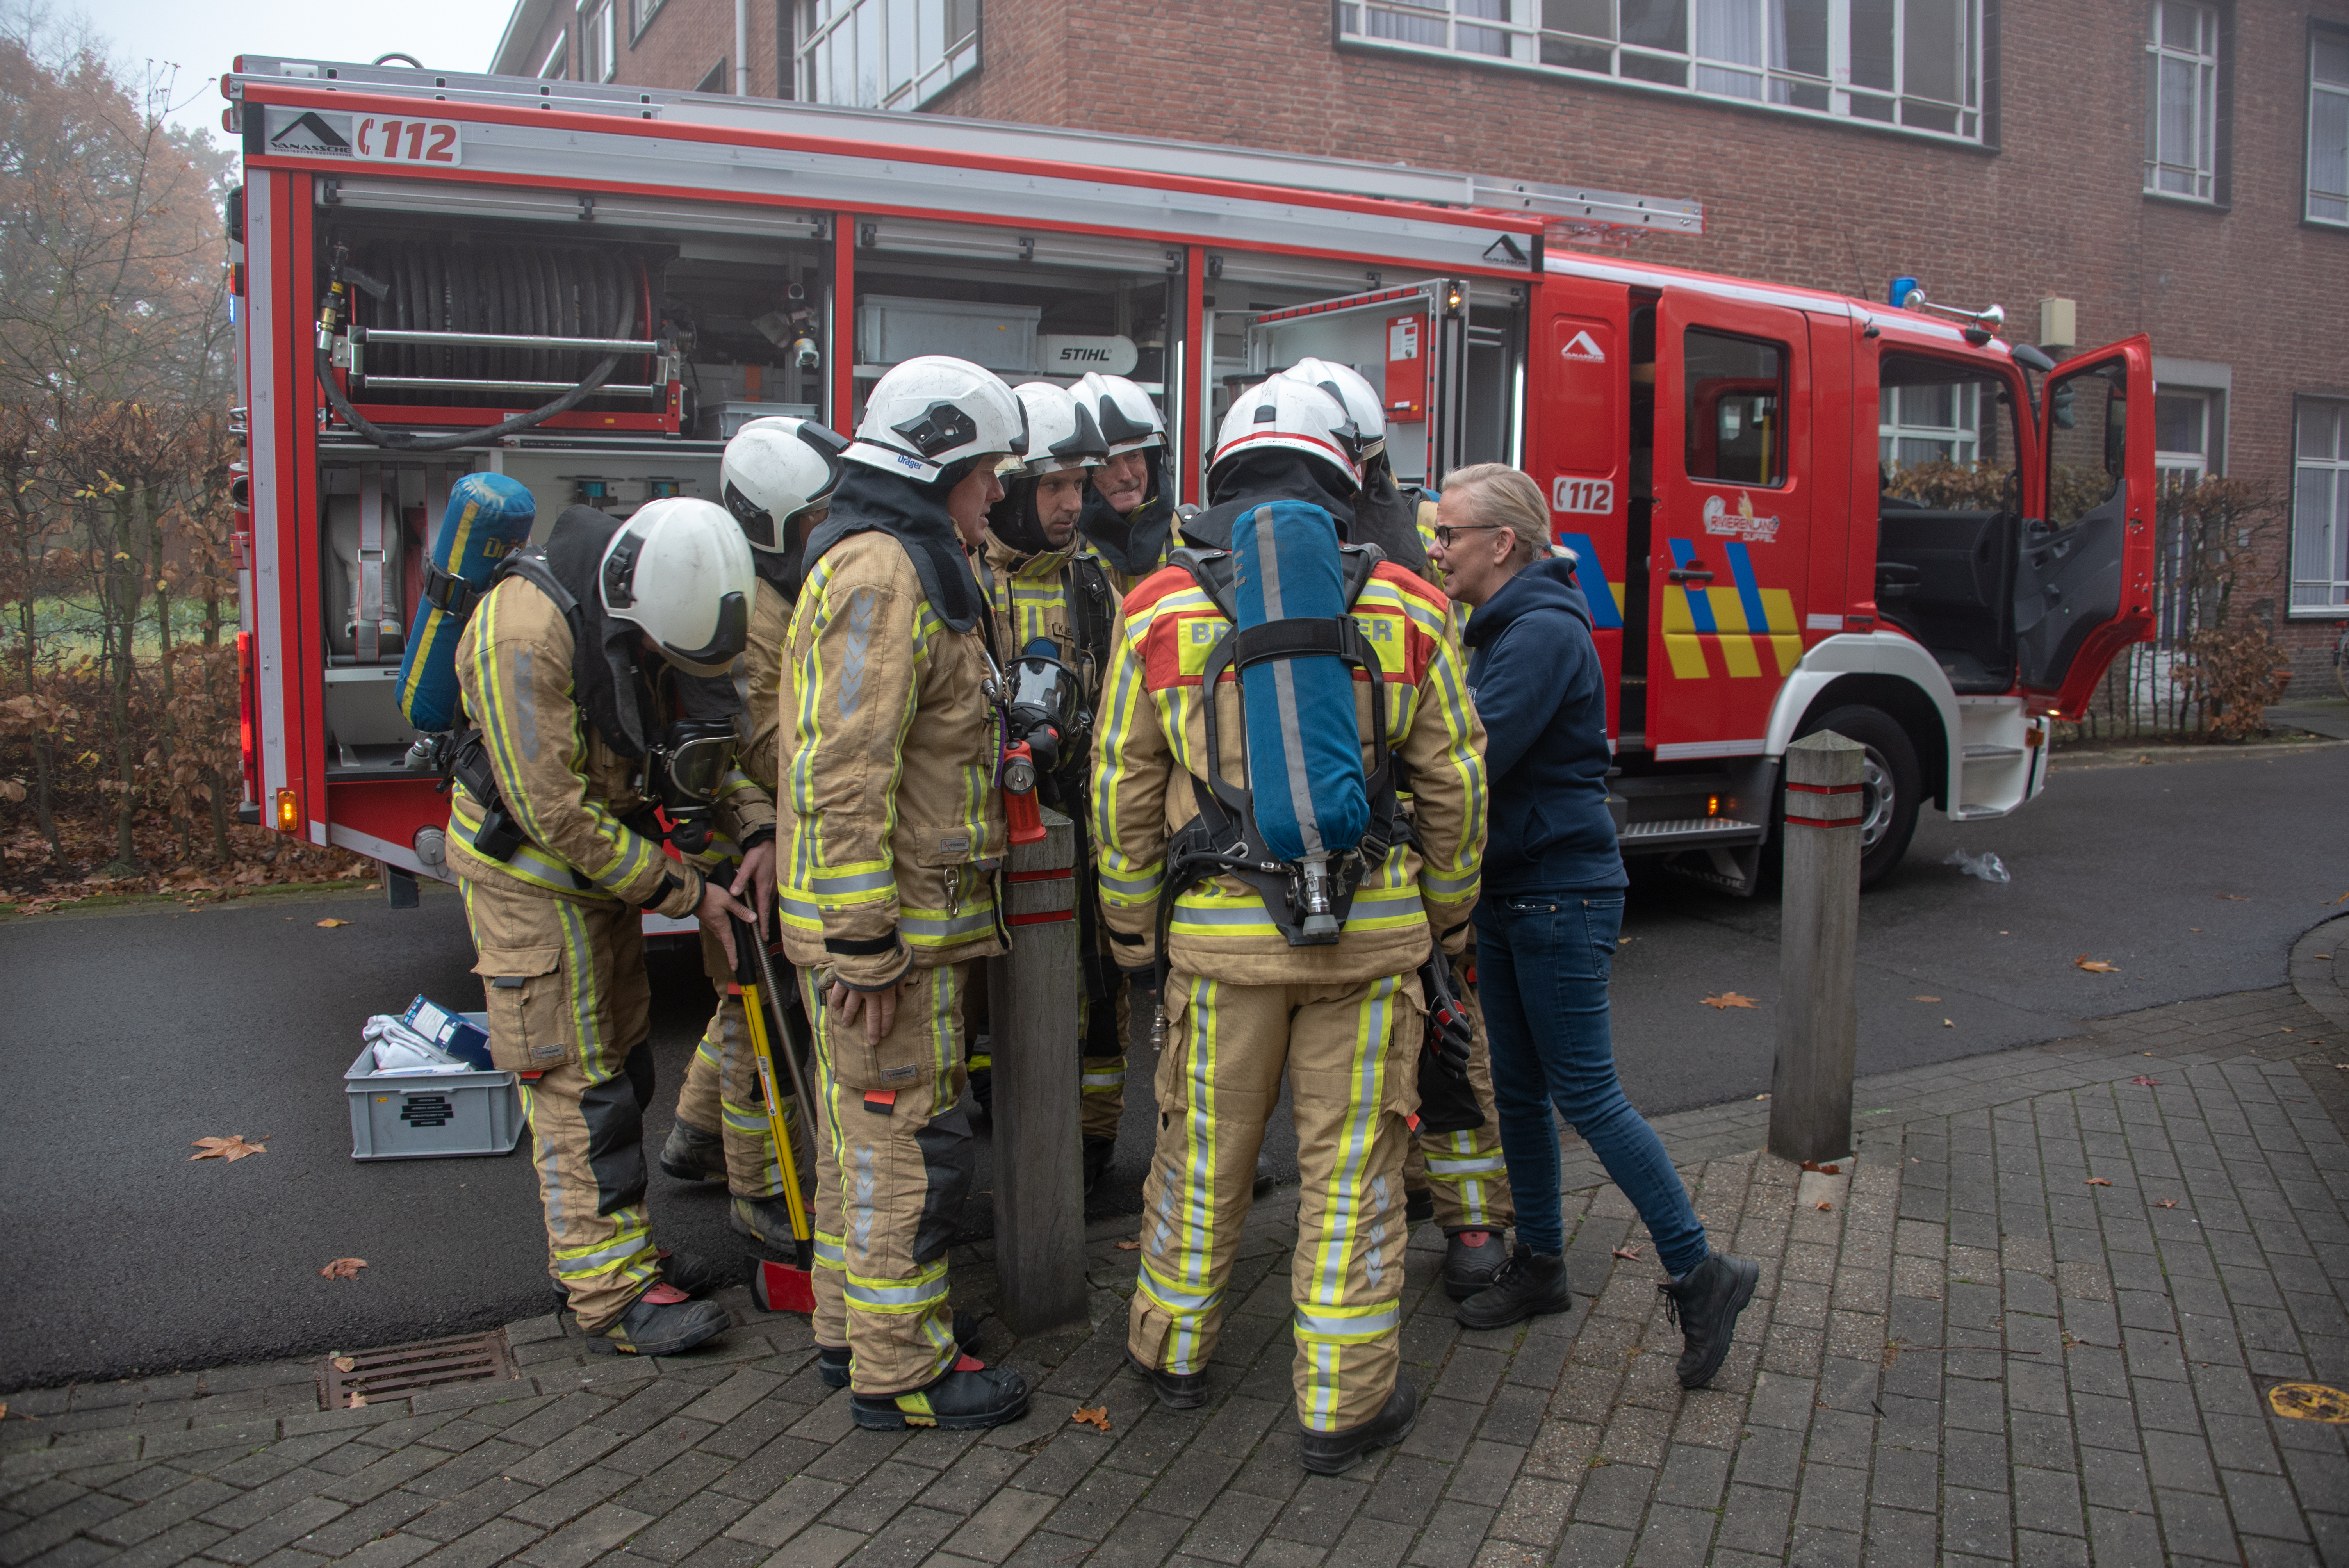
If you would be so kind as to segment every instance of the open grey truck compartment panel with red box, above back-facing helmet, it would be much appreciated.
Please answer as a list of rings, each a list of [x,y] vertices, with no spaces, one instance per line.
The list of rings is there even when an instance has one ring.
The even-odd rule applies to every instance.
[[[1250,319],[1250,383],[1299,359],[1351,364],[1381,390],[1395,484],[1431,486],[1463,462],[1468,312],[1456,279],[1431,277]]]

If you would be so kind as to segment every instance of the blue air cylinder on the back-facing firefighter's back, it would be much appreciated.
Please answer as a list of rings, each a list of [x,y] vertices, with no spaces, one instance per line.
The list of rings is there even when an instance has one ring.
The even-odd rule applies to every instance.
[[[1231,608],[1238,629],[1346,615],[1337,523],[1320,507],[1276,500],[1238,519]],[[1247,697],[1247,789],[1257,831],[1280,859],[1339,854],[1369,826],[1353,669],[1337,655],[1266,660],[1240,671]]]

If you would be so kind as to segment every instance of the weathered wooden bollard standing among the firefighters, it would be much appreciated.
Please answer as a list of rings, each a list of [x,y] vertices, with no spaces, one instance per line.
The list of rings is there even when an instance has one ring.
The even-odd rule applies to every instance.
[[[1019,1338],[1085,1326],[1085,1162],[1078,1148],[1076,826],[1043,812],[1041,843],[1003,876],[1012,951],[987,967],[994,1035],[996,1277]]]

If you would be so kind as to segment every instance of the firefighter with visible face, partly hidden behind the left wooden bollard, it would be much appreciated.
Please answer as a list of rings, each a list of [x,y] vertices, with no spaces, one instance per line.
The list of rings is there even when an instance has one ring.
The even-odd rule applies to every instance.
[[[1057,660],[1076,695],[1071,732],[1057,737],[1050,765],[1038,765],[1038,782],[1043,803],[1066,812],[1078,833],[1078,1131],[1090,1195],[1118,1145],[1125,1045],[1132,1030],[1125,976],[1102,932],[1083,800],[1092,765],[1092,711],[1118,624],[1118,592],[1109,584],[1099,554],[1078,535],[1076,521],[1109,444],[1092,408],[1071,392],[1045,380],[1012,392],[1027,411],[1029,451],[1024,462],[1003,469],[1003,500],[987,514],[980,584],[1008,634],[1005,653]]]

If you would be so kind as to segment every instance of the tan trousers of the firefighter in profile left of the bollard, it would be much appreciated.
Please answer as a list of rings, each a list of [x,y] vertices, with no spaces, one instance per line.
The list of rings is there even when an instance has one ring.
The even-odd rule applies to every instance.
[[[954,1371],[947,1244],[970,1195],[963,965],[907,969],[879,1047],[832,1021],[829,969],[801,969],[815,1026],[815,1343],[848,1345],[850,1387],[904,1394]],[[911,1070],[909,1070],[911,1068]],[[914,1223],[904,1221],[914,1216]]]

